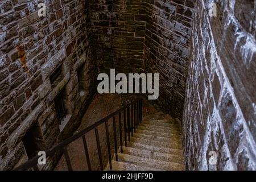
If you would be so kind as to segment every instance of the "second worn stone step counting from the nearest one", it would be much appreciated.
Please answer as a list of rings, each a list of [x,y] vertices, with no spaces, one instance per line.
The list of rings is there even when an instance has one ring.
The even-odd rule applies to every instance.
[[[121,160],[123,162],[127,162],[129,164],[135,164],[138,166],[147,166],[150,168],[158,168],[163,170],[175,170],[175,171],[181,171],[184,170],[183,164],[177,164],[177,163],[171,163],[156,159],[147,159],[147,158],[141,158],[138,156],[133,155],[127,155],[127,154],[121,154],[118,153],[118,161]]]

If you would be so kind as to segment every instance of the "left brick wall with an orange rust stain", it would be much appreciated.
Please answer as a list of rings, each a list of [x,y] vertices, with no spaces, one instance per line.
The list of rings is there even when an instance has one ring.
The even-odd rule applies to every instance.
[[[65,68],[63,74],[70,75],[71,72],[76,73],[73,64],[82,64],[85,60],[88,63],[91,61],[89,1],[86,0],[85,6],[82,2],[74,0],[56,0],[47,8],[48,18],[39,18],[38,7],[34,1],[6,0],[1,2],[0,6],[0,125],[5,125],[6,131],[0,133],[2,142],[0,150],[1,155],[11,156],[14,153],[24,155],[23,146],[20,147],[19,140],[36,121],[38,108],[42,110],[46,107],[45,109],[54,113],[52,119],[55,122],[52,123],[55,131],[47,133],[47,136],[41,137],[38,141],[45,142],[47,138],[51,140],[49,143],[56,144],[55,140],[60,136],[56,110],[52,107],[52,103],[46,101],[47,94],[52,92],[51,84],[47,79],[61,64],[64,64]],[[69,60],[67,60],[65,47],[68,47],[68,55],[72,55],[69,56]],[[93,79],[95,73],[93,65],[89,66],[86,69],[86,79]],[[68,78],[65,83],[68,82]],[[43,87],[46,80],[47,85]],[[93,88],[93,82],[90,83],[85,85],[88,93]],[[62,88],[65,88],[65,84]],[[72,94],[75,94],[76,102],[81,102],[79,89]],[[71,104],[69,101],[65,102],[67,102],[66,105],[73,105],[72,119],[78,118],[84,106],[75,104],[73,101]],[[72,125],[70,131],[65,132],[64,135],[71,135],[74,127],[75,125]],[[38,128],[38,131],[40,130]],[[16,131],[15,135],[14,131]],[[12,135],[11,139],[9,135]],[[7,151],[6,140],[9,140]],[[16,158],[5,158],[0,164],[0,170],[12,169],[18,162],[19,155],[16,155]],[[52,166],[49,165],[49,168]]]

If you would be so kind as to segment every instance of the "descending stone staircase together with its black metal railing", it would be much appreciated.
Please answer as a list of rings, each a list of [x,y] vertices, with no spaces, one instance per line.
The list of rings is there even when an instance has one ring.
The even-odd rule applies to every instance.
[[[147,117],[143,117],[144,115]],[[92,135],[86,135],[89,132]],[[92,140],[93,137],[96,143]],[[75,150],[70,148],[69,144],[74,142],[82,143],[84,150],[79,150],[82,154],[77,153],[76,147]],[[94,146],[88,147],[89,142]],[[63,161],[69,171],[82,169],[85,162],[89,171],[104,170],[104,165],[106,170],[184,170],[179,123],[168,114],[148,110],[142,98],[127,102],[121,109],[65,139],[46,151],[46,157],[52,157],[61,151],[63,160],[59,162]],[[77,168],[72,159],[81,155],[85,155],[86,160],[81,158],[83,166]],[[15,170],[38,167],[38,158],[36,156]]]

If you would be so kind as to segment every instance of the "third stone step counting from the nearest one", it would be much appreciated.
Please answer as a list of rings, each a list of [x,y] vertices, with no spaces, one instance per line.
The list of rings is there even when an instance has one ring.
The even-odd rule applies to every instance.
[[[131,147],[123,146],[123,154],[183,164],[183,157],[181,157],[181,156],[164,154],[164,153],[160,153],[160,152],[151,152],[149,150],[143,150],[143,149],[139,149],[139,148],[131,148]]]

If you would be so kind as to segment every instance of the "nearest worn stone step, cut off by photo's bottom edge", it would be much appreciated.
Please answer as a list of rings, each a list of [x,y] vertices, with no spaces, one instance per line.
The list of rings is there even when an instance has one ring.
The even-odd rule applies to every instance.
[[[110,170],[109,164],[106,167],[106,170]],[[145,166],[137,166],[135,164],[125,163],[125,162],[117,162],[112,160],[112,170],[113,171],[160,171],[161,169],[150,168]]]

